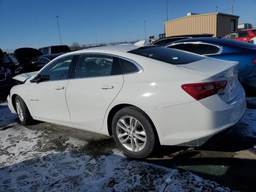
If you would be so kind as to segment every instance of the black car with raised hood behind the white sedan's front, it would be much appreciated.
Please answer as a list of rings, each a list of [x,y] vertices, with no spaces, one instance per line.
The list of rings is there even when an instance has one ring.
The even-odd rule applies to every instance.
[[[61,54],[43,55],[42,52],[34,48],[19,48],[14,51],[14,55],[22,68],[20,73],[38,71],[50,60]]]

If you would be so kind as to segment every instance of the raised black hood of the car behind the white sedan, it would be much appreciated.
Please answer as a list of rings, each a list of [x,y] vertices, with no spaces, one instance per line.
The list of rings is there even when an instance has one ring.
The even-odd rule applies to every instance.
[[[20,64],[23,66],[26,65],[32,58],[43,55],[37,49],[34,48],[19,48],[14,50],[14,56]]]

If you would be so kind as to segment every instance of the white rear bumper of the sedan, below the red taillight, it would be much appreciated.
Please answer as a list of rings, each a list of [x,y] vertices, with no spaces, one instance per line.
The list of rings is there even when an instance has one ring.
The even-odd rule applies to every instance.
[[[234,100],[218,95],[200,101],[147,111],[161,145],[200,146],[210,137],[236,124],[246,111],[244,89]]]

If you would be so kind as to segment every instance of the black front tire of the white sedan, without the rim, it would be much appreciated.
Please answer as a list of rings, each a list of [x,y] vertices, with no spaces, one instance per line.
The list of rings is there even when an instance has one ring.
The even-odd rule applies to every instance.
[[[21,107],[21,110],[22,110],[22,113],[23,113],[23,120],[21,120],[20,117],[19,117],[20,123],[22,125],[31,125],[31,124],[33,124],[34,119],[30,115],[28,107],[26,106],[24,100],[18,95],[15,98],[15,107],[16,107],[17,113],[18,113],[17,100],[20,102],[20,107]]]

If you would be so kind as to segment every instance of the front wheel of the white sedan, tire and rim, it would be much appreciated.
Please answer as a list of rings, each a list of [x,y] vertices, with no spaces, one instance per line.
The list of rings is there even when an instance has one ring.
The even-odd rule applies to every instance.
[[[24,100],[20,96],[15,98],[16,111],[22,125],[30,125],[34,122],[28,107],[26,106]]]

